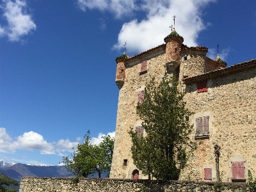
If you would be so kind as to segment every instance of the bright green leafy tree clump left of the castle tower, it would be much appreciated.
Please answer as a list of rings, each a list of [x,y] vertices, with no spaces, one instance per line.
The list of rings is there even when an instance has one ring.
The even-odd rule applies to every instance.
[[[93,145],[90,138],[90,131],[84,136],[84,143],[79,143],[74,154],[63,157],[63,163],[70,172],[78,177],[88,177],[97,172],[109,172],[112,156],[114,139],[110,136],[103,136],[99,145]],[[74,149],[74,148],[73,148]]]

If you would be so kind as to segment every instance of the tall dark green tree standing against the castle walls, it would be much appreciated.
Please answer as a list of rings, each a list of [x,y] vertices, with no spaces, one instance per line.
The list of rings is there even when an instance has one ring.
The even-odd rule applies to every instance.
[[[193,113],[186,108],[185,92],[178,88],[175,77],[165,74],[159,84],[152,78],[146,85],[143,103],[138,103],[145,136],[131,128],[132,159],[143,174],[156,179],[177,180],[186,166],[196,143],[189,136],[193,125],[188,118]]]

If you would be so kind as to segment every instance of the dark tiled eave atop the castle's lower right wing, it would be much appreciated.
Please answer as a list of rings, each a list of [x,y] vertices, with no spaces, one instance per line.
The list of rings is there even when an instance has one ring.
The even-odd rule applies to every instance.
[[[245,61],[243,63],[238,63],[227,68],[222,68],[214,70],[212,72],[207,72],[200,76],[187,77],[183,79],[185,84],[195,84],[202,81],[207,81],[208,79],[218,79],[220,77],[229,76],[231,74],[237,74],[239,72],[244,72],[256,67],[256,59],[251,61]]]

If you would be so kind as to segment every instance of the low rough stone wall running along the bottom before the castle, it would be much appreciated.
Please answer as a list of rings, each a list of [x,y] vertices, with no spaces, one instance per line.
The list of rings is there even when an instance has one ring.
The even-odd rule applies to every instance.
[[[132,179],[79,179],[77,183],[70,178],[22,177],[19,192],[135,192],[135,191],[250,191],[248,184],[227,182],[195,182],[182,180],[132,180]]]

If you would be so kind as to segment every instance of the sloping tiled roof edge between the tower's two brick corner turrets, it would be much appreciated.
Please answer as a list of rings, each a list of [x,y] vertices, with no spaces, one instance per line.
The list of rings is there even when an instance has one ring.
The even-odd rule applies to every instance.
[[[155,54],[157,52],[163,51],[166,49],[166,44],[159,45],[157,47],[154,47],[152,49],[148,49],[148,51],[141,52],[140,54],[136,54],[135,56],[132,56],[131,58],[127,58],[124,60],[125,65],[132,63],[134,61],[141,60],[143,58],[147,58],[147,56],[150,56],[152,54]]]

